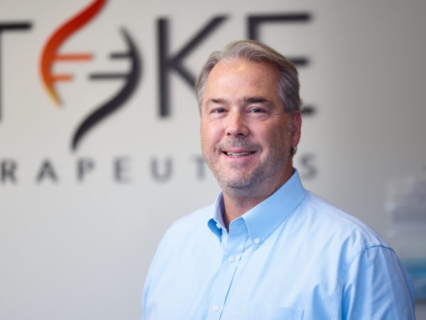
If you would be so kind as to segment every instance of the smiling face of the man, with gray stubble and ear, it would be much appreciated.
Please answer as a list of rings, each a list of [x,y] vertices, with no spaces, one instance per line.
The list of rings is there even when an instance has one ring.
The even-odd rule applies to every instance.
[[[273,193],[293,174],[290,146],[300,112],[285,113],[278,70],[267,63],[218,63],[201,106],[204,159],[224,192]]]

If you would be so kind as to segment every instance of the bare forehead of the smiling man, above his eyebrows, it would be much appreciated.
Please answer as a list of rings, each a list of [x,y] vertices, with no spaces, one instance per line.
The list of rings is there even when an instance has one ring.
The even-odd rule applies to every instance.
[[[207,78],[204,98],[251,94],[278,95],[278,70],[275,66],[241,59],[219,62]]]

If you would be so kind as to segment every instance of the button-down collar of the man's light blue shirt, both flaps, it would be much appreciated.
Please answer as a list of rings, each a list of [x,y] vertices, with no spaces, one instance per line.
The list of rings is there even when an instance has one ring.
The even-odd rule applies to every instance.
[[[246,222],[249,238],[256,249],[288,218],[305,196],[305,188],[295,169],[293,176],[275,193],[241,216]],[[223,212],[224,200],[221,192],[214,205],[214,218],[208,223],[210,230],[219,238],[224,229]]]

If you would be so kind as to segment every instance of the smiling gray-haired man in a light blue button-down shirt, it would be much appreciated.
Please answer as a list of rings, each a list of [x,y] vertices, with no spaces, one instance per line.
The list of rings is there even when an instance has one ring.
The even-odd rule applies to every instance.
[[[415,319],[413,287],[379,235],[302,187],[297,70],[256,41],[210,55],[196,85],[204,159],[222,188],[158,246],[143,317]]]

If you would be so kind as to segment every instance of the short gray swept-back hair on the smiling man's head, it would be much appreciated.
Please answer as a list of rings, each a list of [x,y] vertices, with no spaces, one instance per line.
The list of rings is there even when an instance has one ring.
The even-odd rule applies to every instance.
[[[195,95],[199,107],[202,105],[207,78],[214,66],[221,61],[235,59],[243,59],[252,63],[269,63],[275,66],[279,72],[278,94],[283,100],[285,112],[293,114],[296,110],[300,110],[300,85],[295,65],[273,48],[253,40],[231,42],[224,50],[214,51],[209,56],[195,82]]]

